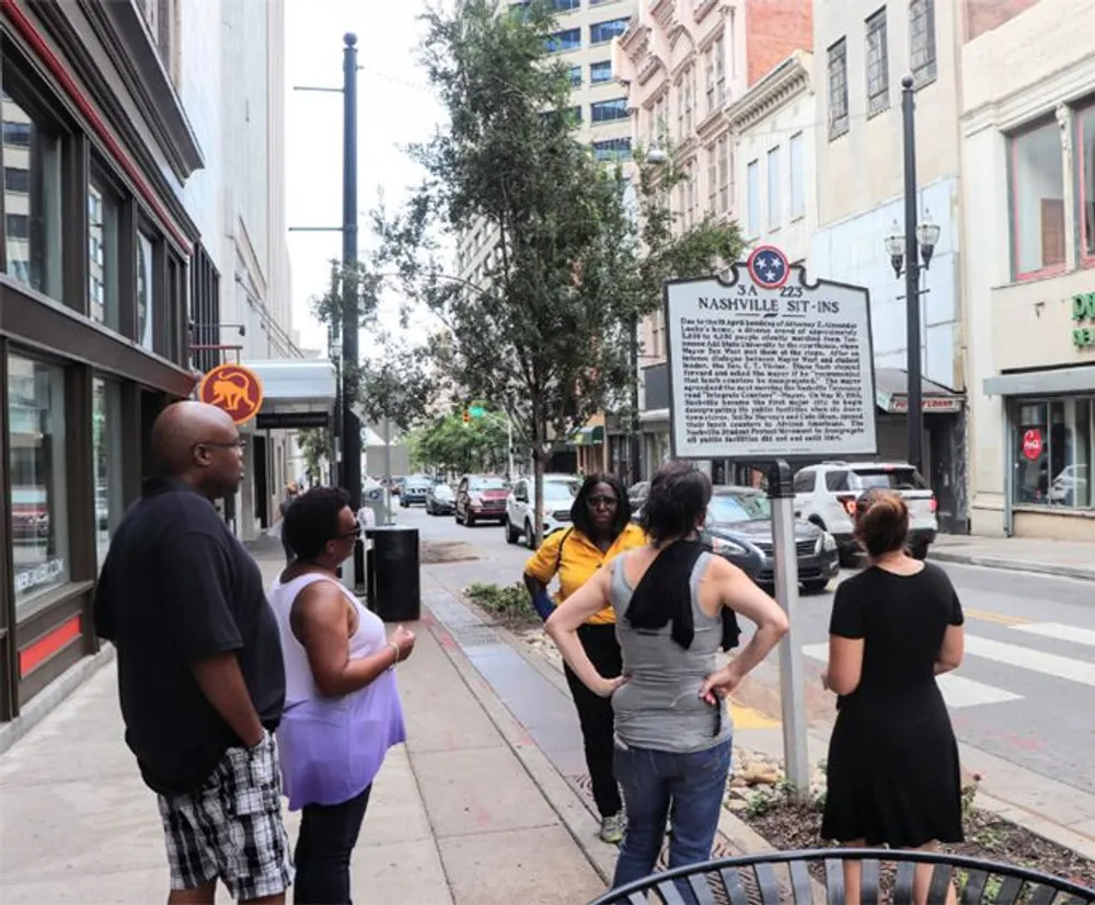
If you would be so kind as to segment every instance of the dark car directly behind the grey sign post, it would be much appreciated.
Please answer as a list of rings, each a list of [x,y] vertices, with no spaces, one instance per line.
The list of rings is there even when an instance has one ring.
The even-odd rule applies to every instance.
[[[751,487],[716,487],[707,507],[704,539],[719,556],[741,567],[771,592],[775,587],[775,543],[768,496]],[[795,520],[798,582],[810,592],[823,591],[840,571],[840,552],[831,534]]]

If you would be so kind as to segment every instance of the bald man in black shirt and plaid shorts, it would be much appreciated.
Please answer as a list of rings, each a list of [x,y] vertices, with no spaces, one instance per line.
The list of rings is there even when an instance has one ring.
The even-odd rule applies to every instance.
[[[292,882],[273,732],[285,703],[262,573],[212,500],[243,477],[232,419],[197,402],[152,428],[162,476],[111,541],[95,628],[118,651],[126,743],[158,793],[170,902],[283,903]]]

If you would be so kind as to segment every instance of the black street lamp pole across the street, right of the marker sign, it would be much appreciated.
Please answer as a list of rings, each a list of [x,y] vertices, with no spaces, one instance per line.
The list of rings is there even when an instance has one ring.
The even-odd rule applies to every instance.
[[[924,410],[920,374],[920,247],[917,243],[917,124],[915,92],[911,76],[901,80],[901,113],[904,120],[904,305],[906,345],[909,347],[906,371],[909,375],[909,413],[906,416],[909,438],[909,464],[922,471],[921,445],[924,437]]]

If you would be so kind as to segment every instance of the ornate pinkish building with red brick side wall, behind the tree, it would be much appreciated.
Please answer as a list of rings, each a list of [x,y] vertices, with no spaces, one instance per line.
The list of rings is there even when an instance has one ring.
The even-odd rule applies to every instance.
[[[629,89],[635,140],[646,148],[671,149],[687,173],[670,199],[678,229],[687,230],[708,213],[740,223],[735,185],[739,137],[728,114],[737,109],[740,115],[747,92],[788,58],[800,67],[803,58],[795,55],[809,51],[812,28],[808,0],[652,0],[641,7],[619,42],[618,78]],[[794,115],[800,117],[804,108]],[[782,173],[782,162],[779,169]],[[638,473],[644,476],[670,454],[665,333],[660,310],[639,329]],[[626,427],[609,432],[613,462],[626,463]],[[725,463],[711,467],[716,481],[730,478]]]

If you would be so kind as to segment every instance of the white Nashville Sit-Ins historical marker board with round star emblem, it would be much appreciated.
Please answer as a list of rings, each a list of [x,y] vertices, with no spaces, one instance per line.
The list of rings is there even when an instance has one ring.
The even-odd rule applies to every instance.
[[[772,246],[730,274],[666,285],[673,456],[874,455],[867,290],[807,283]]]

